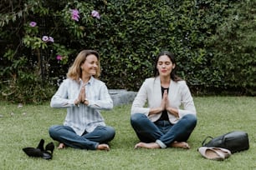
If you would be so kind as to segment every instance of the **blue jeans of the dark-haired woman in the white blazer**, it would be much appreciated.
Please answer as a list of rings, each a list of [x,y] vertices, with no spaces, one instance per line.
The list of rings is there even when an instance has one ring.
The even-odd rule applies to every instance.
[[[197,125],[197,117],[187,114],[176,124],[161,120],[151,122],[145,114],[131,115],[131,126],[144,143],[158,143],[161,148],[169,147],[173,142],[186,142]]]

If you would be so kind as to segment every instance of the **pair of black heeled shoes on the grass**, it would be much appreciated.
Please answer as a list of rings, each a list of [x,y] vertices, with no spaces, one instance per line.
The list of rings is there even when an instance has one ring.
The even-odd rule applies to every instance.
[[[23,148],[23,152],[26,153],[28,157],[52,159],[54,153],[54,143],[48,143],[44,149],[44,139],[41,139],[37,148]]]

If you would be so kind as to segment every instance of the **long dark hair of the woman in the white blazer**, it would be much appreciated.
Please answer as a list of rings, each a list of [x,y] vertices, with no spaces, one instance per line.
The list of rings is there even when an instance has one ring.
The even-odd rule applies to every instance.
[[[175,64],[175,66],[176,66],[176,67],[174,67],[174,68],[172,69],[172,72],[171,72],[171,74],[170,74],[171,79],[172,79],[173,81],[175,81],[175,82],[181,81],[182,78],[181,78],[181,77],[178,77],[178,76],[176,75],[176,73],[175,73],[175,72],[176,72],[176,69],[177,69],[177,62],[175,61],[175,56],[174,56],[173,53],[168,52],[168,51],[162,51],[162,52],[160,52],[160,53],[157,55],[157,57],[156,57],[156,62],[155,62],[155,67],[154,67],[154,77],[159,76],[159,72],[158,72],[158,69],[157,69],[157,62],[158,62],[158,60],[159,60],[159,57],[161,57],[161,56],[163,56],[163,55],[168,56],[168,57],[170,58],[170,60],[172,61],[172,64]]]

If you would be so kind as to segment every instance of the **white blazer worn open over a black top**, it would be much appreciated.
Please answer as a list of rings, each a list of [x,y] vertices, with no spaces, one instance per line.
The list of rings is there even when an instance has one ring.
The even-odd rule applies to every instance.
[[[185,81],[174,82],[171,80],[168,98],[169,105],[178,109],[179,118],[187,114],[197,114],[191,92]],[[150,108],[161,106],[161,99],[160,77],[146,78],[132,103],[131,114],[143,113],[148,116]],[[161,113],[152,114],[149,119],[155,122],[159,117],[161,117]],[[168,117],[173,124],[179,121],[179,118],[170,112],[168,112]]]

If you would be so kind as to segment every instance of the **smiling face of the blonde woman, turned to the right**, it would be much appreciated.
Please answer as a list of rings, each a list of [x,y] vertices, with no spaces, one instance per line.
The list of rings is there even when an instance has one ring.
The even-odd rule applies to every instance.
[[[82,72],[88,76],[95,76],[99,67],[98,58],[94,54],[86,57],[84,63],[81,65]]]

